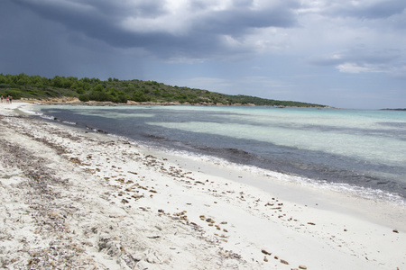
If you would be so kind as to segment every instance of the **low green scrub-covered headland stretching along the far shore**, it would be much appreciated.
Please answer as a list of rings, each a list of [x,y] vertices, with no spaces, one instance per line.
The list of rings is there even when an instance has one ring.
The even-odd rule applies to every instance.
[[[82,102],[127,103],[191,103],[191,104],[255,104],[267,106],[325,107],[320,104],[277,101],[250,95],[230,95],[189,87],[171,86],[155,81],[118,80],[74,76],[3,75],[0,74],[0,94],[12,95],[14,99],[50,99],[58,97],[78,97]]]

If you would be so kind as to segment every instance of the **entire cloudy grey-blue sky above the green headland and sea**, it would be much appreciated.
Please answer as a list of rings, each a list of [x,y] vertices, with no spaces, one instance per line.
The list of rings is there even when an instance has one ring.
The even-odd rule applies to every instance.
[[[405,0],[1,0],[0,73],[406,107]]]

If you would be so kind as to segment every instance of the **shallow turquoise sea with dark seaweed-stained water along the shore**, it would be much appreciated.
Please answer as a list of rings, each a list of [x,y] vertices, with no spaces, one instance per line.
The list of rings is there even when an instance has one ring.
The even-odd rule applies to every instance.
[[[36,115],[138,144],[396,203],[406,112],[266,106],[40,105]]]

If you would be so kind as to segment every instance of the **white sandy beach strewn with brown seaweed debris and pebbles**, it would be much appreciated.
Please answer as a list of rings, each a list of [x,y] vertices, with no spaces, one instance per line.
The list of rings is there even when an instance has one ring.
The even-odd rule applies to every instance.
[[[406,207],[0,104],[9,269],[406,269]]]

